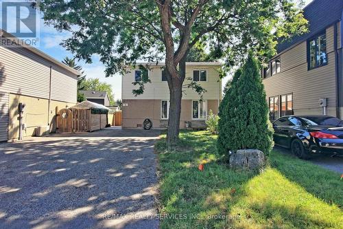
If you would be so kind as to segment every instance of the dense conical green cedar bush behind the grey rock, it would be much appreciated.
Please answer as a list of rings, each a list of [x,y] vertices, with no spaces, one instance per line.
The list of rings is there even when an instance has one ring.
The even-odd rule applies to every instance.
[[[273,129],[257,61],[248,56],[239,69],[220,105],[219,153],[238,149],[259,149],[270,153]]]

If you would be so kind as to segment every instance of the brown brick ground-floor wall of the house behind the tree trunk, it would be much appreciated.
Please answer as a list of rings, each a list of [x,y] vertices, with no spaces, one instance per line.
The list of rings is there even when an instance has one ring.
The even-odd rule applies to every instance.
[[[206,101],[207,111],[211,109],[213,113],[217,113],[218,100]],[[161,119],[161,100],[123,100],[123,103],[128,105],[122,107],[123,128],[137,128],[137,124],[143,124],[145,118],[152,121],[153,128],[167,127],[168,120]],[[192,100],[181,101],[180,128],[185,128],[185,121],[204,127],[204,120],[192,120]]]

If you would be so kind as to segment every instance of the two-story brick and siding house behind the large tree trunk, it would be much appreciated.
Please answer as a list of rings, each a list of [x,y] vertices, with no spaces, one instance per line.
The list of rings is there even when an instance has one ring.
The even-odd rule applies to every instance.
[[[146,65],[146,63],[141,63]],[[222,100],[222,82],[219,76],[220,63],[186,63],[186,80],[181,102],[180,128],[205,127],[204,120],[212,110],[218,112]],[[143,94],[134,96],[133,85],[140,81],[143,74],[148,74],[151,83],[145,84]],[[202,95],[196,93],[186,85],[191,80],[199,83],[206,92]],[[169,118],[169,87],[165,77],[164,64],[150,65],[147,72],[129,67],[128,73],[122,79],[122,127],[141,128],[145,118],[152,121],[153,128],[167,127]]]

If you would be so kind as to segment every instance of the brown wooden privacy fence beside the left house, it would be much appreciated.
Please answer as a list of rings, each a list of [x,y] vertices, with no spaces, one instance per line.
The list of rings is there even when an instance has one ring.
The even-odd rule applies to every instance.
[[[57,113],[57,132],[86,132],[103,129],[107,114],[91,113],[91,109],[61,109]]]

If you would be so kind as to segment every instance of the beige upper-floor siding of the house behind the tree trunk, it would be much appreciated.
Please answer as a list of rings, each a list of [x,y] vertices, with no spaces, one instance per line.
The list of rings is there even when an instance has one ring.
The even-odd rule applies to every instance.
[[[186,67],[186,78],[193,78],[194,69],[207,70],[207,81],[198,82],[204,87],[207,92],[204,93],[204,99],[221,99],[222,85],[219,78],[217,68],[220,66],[206,66],[206,65],[192,65]],[[122,98],[123,99],[169,99],[169,87],[167,81],[162,81],[162,69],[160,66],[154,66],[149,71],[149,78],[151,83],[145,84],[144,93],[135,97],[132,94],[132,89],[137,89],[138,86],[132,85],[134,82],[134,70],[130,70],[128,74],[123,76],[122,80]],[[184,85],[189,84],[190,80],[185,80]],[[185,89],[185,93],[182,94],[182,99],[199,99],[200,96],[192,89]]]

